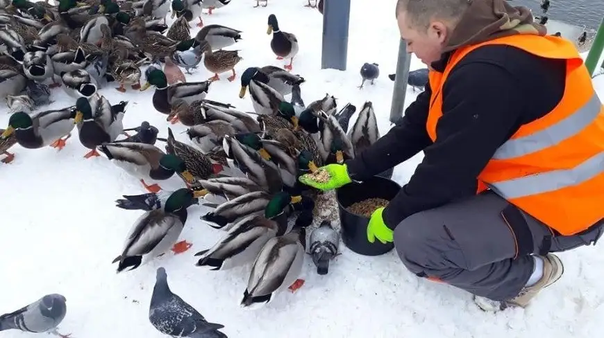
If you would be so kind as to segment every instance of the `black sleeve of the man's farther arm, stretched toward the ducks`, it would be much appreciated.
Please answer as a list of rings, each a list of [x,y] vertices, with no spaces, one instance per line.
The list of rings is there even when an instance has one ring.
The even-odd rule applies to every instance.
[[[426,90],[407,107],[405,115],[387,134],[371,145],[371,148],[346,161],[352,179],[362,180],[377,175],[403,163],[432,144],[426,132],[431,93],[428,84]]]

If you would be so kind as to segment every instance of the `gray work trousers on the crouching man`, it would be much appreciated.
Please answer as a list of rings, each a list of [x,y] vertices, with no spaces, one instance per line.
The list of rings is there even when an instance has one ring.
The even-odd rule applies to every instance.
[[[531,254],[596,244],[604,221],[563,236],[490,190],[407,217],[394,231],[405,266],[495,301],[514,298],[534,269]]]

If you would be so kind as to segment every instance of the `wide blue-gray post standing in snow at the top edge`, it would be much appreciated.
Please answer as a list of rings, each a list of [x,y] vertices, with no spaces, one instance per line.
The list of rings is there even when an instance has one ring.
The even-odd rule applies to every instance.
[[[350,0],[323,1],[321,69],[346,70]]]

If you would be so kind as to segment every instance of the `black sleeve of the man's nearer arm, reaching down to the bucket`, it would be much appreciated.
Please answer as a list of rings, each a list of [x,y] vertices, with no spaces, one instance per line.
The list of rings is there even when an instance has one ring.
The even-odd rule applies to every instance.
[[[512,60],[513,61],[513,60]],[[458,64],[446,79],[437,140],[408,184],[385,208],[394,229],[406,217],[476,194],[476,177],[518,128],[528,100],[519,80],[498,64]]]

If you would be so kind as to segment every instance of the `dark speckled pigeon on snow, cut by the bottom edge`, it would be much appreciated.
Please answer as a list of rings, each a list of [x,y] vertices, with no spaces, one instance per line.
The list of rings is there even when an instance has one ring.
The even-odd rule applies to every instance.
[[[166,269],[160,267],[153,287],[149,321],[159,332],[172,337],[228,338],[219,331],[224,325],[208,323],[203,316],[168,287]]]

